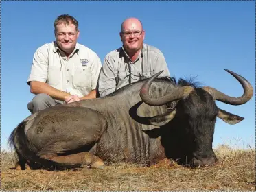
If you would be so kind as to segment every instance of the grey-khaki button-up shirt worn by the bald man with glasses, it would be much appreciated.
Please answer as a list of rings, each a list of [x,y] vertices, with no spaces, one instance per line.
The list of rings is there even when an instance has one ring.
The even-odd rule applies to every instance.
[[[132,62],[124,48],[120,47],[105,57],[99,77],[100,97],[113,93],[129,83],[151,77],[161,70],[163,73],[159,77],[170,77],[163,53],[156,47],[143,44],[135,62]]]

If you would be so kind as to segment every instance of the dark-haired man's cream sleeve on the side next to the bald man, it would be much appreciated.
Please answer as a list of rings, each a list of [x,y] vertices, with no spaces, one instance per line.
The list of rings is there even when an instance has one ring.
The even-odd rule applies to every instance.
[[[95,58],[93,60],[93,64],[91,65],[91,89],[95,89],[97,86],[97,81],[100,75],[100,69],[102,67],[102,63],[100,62],[100,58],[95,54]]]

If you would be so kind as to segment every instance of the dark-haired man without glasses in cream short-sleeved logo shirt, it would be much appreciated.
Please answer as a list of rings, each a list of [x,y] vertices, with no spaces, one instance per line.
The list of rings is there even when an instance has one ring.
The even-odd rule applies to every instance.
[[[78,21],[68,14],[54,21],[56,41],[36,50],[27,84],[35,96],[30,112],[96,97],[101,62],[95,52],[77,43]]]

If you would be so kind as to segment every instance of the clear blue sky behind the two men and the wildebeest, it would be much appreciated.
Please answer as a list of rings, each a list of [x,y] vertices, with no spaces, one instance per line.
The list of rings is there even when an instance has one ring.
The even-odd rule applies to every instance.
[[[137,17],[145,43],[161,49],[172,76],[196,76],[205,86],[240,97],[242,86],[224,69],[246,77],[255,88],[255,1],[2,1],[1,148],[10,132],[30,115],[26,81],[38,47],[54,40],[54,20],[70,14],[79,22],[78,42],[103,61],[121,46],[121,22]],[[255,147],[255,96],[242,106],[217,101],[245,117],[229,125],[218,119],[213,147]]]

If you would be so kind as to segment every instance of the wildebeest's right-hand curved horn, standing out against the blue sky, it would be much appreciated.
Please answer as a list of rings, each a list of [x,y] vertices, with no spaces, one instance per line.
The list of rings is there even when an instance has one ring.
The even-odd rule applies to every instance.
[[[225,69],[225,71],[229,72],[233,77],[235,77],[235,79],[240,82],[240,84],[242,84],[244,94],[241,97],[230,97],[209,86],[205,86],[202,89],[211,94],[213,99],[221,101],[225,104],[231,104],[234,106],[245,104],[251,99],[251,97],[253,97],[253,86],[251,86],[251,84],[244,77],[238,75],[237,73],[229,71],[228,69]]]

